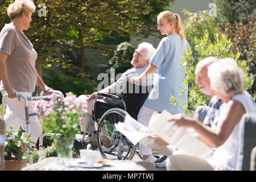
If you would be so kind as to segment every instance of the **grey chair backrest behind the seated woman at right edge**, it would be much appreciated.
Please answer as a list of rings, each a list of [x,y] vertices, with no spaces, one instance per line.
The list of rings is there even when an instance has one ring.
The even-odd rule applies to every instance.
[[[240,122],[236,170],[249,171],[251,151],[256,146],[256,114],[245,113]]]

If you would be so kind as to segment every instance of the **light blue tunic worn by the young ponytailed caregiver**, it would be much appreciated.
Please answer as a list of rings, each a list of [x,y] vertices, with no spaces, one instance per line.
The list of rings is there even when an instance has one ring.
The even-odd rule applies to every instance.
[[[188,102],[188,85],[183,85],[185,79],[185,69],[181,68],[181,55],[187,52],[189,44],[184,40],[184,44],[177,34],[164,37],[156,48],[155,54],[150,59],[150,64],[154,64],[158,69],[154,75],[154,87],[148,95],[144,106],[162,111],[164,109],[171,113],[184,113],[184,104]],[[184,90],[185,87],[185,90]],[[182,101],[176,106],[170,104],[170,98]]]

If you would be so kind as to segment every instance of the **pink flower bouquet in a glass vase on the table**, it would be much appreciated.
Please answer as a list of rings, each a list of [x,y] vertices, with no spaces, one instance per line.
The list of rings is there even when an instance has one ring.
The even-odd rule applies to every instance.
[[[64,104],[57,94],[49,100],[34,101],[35,111],[43,122],[43,130],[53,133],[59,163],[68,166],[72,158],[74,137],[80,132],[79,122],[87,113],[87,102],[80,101],[73,93],[66,93]]]

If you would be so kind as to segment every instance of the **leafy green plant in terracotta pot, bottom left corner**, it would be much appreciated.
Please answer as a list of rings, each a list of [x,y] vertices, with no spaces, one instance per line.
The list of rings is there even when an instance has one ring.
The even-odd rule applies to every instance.
[[[19,171],[27,166],[27,158],[23,157],[22,146],[32,150],[30,144],[34,143],[30,140],[31,133],[25,138],[20,138],[12,129],[13,126],[5,131],[5,171]]]

